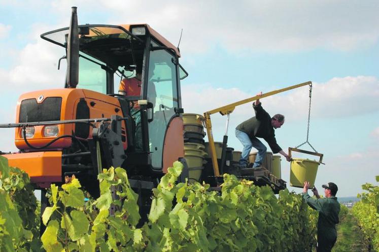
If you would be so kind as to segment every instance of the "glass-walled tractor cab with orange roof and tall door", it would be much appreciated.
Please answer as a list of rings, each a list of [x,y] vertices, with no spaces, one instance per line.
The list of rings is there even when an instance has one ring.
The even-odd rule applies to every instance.
[[[68,33],[66,27],[41,38],[67,48]],[[179,49],[147,24],[79,25],[78,36],[79,82],[76,86],[66,82],[65,88],[89,89],[117,98],[122,110],[127,110],[124,114],[137,118],[136,132],[129,138],[134,138],[134,146],[139,148],[126,148],[126,152],[149,152],[153,169],[162,170],[165,134],[170,121],[183,113],[180,80],[188,74],[179,64]],[[137,69],[142,70],[139,90],[120,94],[120,83],[136,78]],[[141,160],[141,155],[135,160]]]

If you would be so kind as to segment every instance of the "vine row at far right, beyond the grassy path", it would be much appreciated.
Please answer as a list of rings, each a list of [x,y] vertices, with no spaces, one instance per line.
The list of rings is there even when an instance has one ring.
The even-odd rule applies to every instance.
[[[361,201],[353,206],[353,215],[374,250],[379,251],[379,186],[366,183],[362,189],[367,193],[358,195]]]

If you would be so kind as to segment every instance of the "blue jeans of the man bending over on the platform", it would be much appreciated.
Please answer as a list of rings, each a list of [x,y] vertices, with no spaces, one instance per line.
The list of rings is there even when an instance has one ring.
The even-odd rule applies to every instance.
[[[262,166],[264,156],[266,155],[267,147],[261,141],[259,141],[258,138],[250,138],[248,134],[246,134],[245,132],[235,130],[235,136],[244,146],[244,149],[242,150],[241,159],[239,160],[239,165],[247,166],[249,164],[249,153],[251,149],[254,147],[258,150],[258,153],[255,157],[253,167]]]

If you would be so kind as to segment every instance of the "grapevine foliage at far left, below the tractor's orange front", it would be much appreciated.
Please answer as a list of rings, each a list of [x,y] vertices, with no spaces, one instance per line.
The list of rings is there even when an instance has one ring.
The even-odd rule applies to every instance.
[[[40,216],[29,176],[0,156],[0,251],[40,251]]]

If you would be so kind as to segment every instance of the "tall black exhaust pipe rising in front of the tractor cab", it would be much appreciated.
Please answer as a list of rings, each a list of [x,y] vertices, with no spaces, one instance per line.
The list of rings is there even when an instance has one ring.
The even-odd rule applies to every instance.
[[[75,88],[79,82],[79,30],[76,9],[76,7],[72,7],[67,40],[66,86],[69,88]]]

